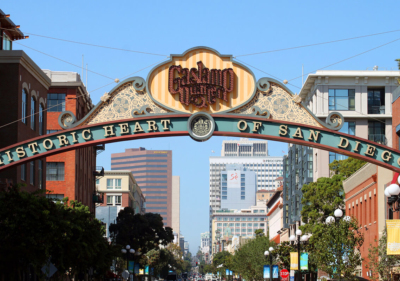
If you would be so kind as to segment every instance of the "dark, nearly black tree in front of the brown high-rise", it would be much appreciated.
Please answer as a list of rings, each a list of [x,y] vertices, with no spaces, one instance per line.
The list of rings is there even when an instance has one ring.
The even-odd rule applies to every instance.
[[[141,253],[147,253],[159,244],[166,246],[174,239],[172,229],[164,228],[159,214],[135,214],[131,207],[118,213],[117,222],[110,224],[110,235],[118,245],[130,245]]]

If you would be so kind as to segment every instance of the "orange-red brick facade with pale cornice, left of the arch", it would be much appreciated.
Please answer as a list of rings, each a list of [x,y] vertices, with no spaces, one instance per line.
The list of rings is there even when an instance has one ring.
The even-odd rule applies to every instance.
[[[77,73],[45,71],[52,77],[52,85],[48,94],[65,94],[65,110],[71,111],[77,118],[82,119],[93,107],[89,95]],[[75,80],[75,81],[74,81]],[[62,130],[58,124],[61,112],[47,112],[47,130]],[[46,158],[46,162],[64,163],[64,180],[47,180],[47,189],[51,194],[77,200],[94,213],[93,194],[96,192],[95,175],[96,150],[94,147],[56,154]],[[52,196],[52,195],[49,195]]]

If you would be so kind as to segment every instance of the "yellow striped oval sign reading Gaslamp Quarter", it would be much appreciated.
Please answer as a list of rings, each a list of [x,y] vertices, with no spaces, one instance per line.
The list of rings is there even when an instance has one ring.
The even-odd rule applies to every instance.
[[[248,102],[256,81],[232,56],[199,47],[153,69],[147,90],[156,103],[176,111],[217,113]]]

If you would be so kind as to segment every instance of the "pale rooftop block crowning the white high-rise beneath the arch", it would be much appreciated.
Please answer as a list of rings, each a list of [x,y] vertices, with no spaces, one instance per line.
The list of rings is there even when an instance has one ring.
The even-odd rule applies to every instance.
[[[222,142],[221,156],[223,157],[262,157],[268,156],[268,141],[230,140]]]

